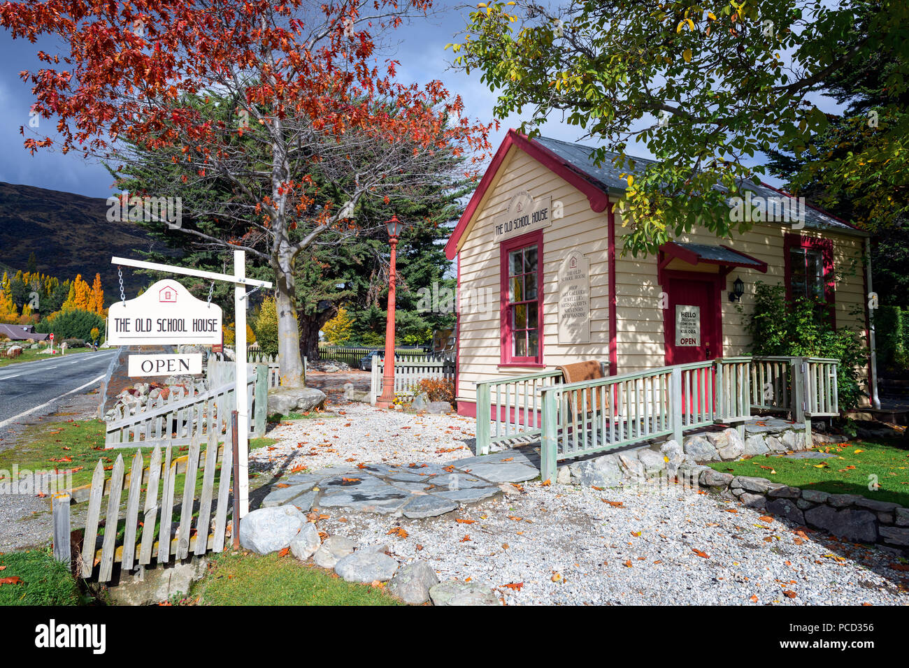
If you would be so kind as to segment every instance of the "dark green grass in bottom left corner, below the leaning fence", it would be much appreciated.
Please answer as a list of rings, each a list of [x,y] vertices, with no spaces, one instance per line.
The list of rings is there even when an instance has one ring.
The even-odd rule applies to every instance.
[[[82,603],[68,564],[55,561],[49,550],[0,554],[0,569],[0,605]]]

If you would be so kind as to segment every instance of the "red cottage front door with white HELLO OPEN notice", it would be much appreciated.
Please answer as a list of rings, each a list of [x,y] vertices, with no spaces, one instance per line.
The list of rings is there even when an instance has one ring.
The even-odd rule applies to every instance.
[[[666,364],[702,362],[723,354],[719,292],[713,275],[704,279],[667,277],[665,280]]]

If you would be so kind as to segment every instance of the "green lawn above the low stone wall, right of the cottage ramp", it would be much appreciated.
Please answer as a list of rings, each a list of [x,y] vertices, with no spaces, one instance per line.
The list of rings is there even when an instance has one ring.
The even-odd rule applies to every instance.
[[[710,466],[724,473],[767,478],[774,483],[831,494],[861,494],[909,507],[909,450],[904,442],[855,440],[814,450],[836,456],[827,459],[758,456],[739,462],[713,462]],[[869,489],[875,481],[878,488]]]

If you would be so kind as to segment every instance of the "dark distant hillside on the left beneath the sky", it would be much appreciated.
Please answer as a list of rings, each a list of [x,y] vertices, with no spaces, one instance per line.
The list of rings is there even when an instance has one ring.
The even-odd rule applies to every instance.
[[[38,271],[61,281],[82,274],[91,284],[95,273],[101,274],[110,304],[119,293],[112,255],[141,259],[137,251],[167,251],[135,223],[110,223],[106,215],[107,204],[99,197],[0,181],[0,275],[5,269],[25,271],[34,252]],[[125,269],[126,298],[149,280]]]

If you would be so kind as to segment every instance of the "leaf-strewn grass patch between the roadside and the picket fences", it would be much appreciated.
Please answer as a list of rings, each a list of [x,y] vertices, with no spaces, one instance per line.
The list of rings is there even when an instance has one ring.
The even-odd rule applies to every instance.
[[[274,438],[250,439],[250,450],[277,443]],[[145,465],[151,456],[151,448],[140,448],[145,456]],[[175,448],[174,456],[187,453],[189,446]],[[71,420],[68,422],[42,423],[25,429],[19,444],[0,452],[0,469],[12,472],[13,464],[19,470],[31,471],[58,469],[73,472],[73,486],[79,487],[92,482],[92,474],[99,459],[105,467],[113,466],[117,455],[123,454],[126,470],[132,462],[135,448],[105,450],[105,423],[101,420]],[[108,475],[110,475],[108,473]],[[177,490],[183,489],[184,475],[177,476]],[[202,478],[199,476],[198,485]]]

